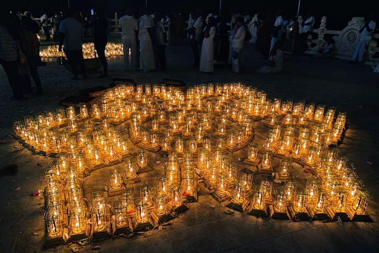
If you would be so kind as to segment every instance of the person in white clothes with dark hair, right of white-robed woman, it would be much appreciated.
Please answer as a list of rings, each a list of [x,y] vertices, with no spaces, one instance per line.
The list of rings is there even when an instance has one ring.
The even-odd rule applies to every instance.
[[[242,50],[245,44],[246,27],[244,26],[243,17],[238,17],[235,21],[237,26],[234,38],[232,40],[233,54],[231,69],[234,73],[238,74],[240,70],[241,56],[243,53]]]

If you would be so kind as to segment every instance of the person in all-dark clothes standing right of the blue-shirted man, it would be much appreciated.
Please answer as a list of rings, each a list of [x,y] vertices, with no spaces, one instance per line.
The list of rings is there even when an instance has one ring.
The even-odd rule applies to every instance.
[[[100,58],[101,64],[103,65],[104,73],[99,76],[99,78],[108,77],[108,63],[105,57],[105,47],[108,43],[107,29],[108,20],[105,18],[104,8],[99,8],[96,11],[96,19],[94,22],[89,24],[89,27],[94,28],[94,44],[97,55]]]

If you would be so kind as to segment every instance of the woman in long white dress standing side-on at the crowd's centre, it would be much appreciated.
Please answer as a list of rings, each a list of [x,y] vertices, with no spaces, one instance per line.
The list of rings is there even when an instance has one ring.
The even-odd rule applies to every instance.
[[[204,40],[201,47],[200,57],[200,71],[213,72],[213,38],[216,34],[216,19],[214,17],[208,18],[208,24],[204,28]]]

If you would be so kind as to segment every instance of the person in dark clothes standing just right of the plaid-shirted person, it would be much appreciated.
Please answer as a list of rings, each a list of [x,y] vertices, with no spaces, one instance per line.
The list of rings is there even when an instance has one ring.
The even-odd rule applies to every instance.
[[[42,95],[41,80],[38,75],[38,62],[39,62],[39,41],[37,33],[39,30],[38,24],[30,17],[24,16],[21,18],[22,26],[24,28],[24,44],[25,44],[25,56],[30,70],[30,76],[32,76],[34,84],[36,84],[37,92],[35,95]],[[30,77],[28,77],[28,89],[32,91],[32,84]]]

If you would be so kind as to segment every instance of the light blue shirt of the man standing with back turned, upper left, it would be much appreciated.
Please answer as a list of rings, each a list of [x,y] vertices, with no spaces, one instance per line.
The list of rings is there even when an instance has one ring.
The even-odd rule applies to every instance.
[[[59,32],[65,34],[65,50],[81,50],[83,26],[75,18],[62,20]]]

